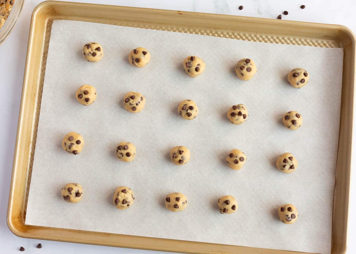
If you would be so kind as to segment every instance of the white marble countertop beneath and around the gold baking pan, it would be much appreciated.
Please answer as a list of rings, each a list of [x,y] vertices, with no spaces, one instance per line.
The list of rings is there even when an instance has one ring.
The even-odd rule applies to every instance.
[[[17,118],[20,107],[30,17],[33,8],[40,2],[41,0],[25,0],[22,14],[14,31],[0,46],[0,140],[2,141],[0,145],[1,253],[18,253],[20,246],[23,246],[26,249],[23,253],[159,253],[147,250],[131,250],[96,245],[24,239],[16,237],[7,228],[7,200],[11,179],[12,158],[14,155]],[[353,10],[355,10],[356,7],[356,1],[354,0],[340,0],[337,2],[330,0],[84,0],[79,2],[265,18],[276,18],[279,14],[281,14],[281,12],[288,10],[289,15],[282,15],[283,19],[340,24],[351,28],[354,32],[356,31],[356,17],[354,17],[353,13]],[[307,6],[304,10],[299,8],[302,4]],[[242,11],[238,9],[240,5],[244,6]],[[353,168],[354,167],[355,163],[353,164]],[[356,242],[352,241],[356,235],[356,219],[352,216],[352,211],[356,208],[355,186],[356,178],[354,177],[351,187],[349,244],[347,254],[353,254],[356,252]],[[42,243],[43,248],[41,250],[36,249],[37,243]]]

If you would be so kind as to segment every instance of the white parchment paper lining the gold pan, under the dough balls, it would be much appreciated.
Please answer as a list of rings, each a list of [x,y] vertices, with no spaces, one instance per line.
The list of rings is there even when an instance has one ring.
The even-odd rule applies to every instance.
[[[104,49],[98,63],[82,57],[85,43]],[[132,67],[127,55],[143,46],[151,53],[144,68]],[[331,219],[339,112],[342,48],[316,48],[246,42],[141,28],[79,21],[54,21],[38,124],[26,224],[137,236],[193,240],[260,248],[330,253]],[[206,63],[195,79],[182,61],[198,55]],[[236,62],[251,58],[258,72],[239,80]],[[292,88],[287,73],[303,67],[310,74],[303,89]],[[75,99],[82,84],[95,86],[95,103],[84,107]],[[141,92],[140,113],[122,106],[129,91]],[[199,107],[195,120],[178,116],[184,99]],[[243,103],[248,120],[240,126],[226,118],[231,105]],[[296,110],[303,126],[290,131],[283,113]],[[84,137],[82,153],[63,151],[70,131]],[[136,145],[131,163],[115,157],[116,145]],[[185,145],[189,163],[176,166],[169,150]],[[238,148],[247,161],[240,171],[225,163]],[[275,160],[291,152],[298,169],[283,174]],[[83,186],[77,204],[62,200],[67,182]],[[117,186],[135,192],[134,205],[118,210],[111,202]],[[164,197],[183,192],[188,206],[172,213]],[[221,215],[217,200],[233,195],[237,212]],[[277,208],[293,203],[299,219],[279,222]]]

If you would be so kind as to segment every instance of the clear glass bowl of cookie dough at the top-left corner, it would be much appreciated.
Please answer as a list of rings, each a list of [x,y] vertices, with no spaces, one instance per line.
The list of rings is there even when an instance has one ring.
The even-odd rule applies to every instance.
[[[15,27],[24,0],[0,0],[0,44]]]

